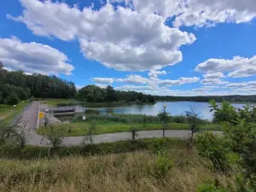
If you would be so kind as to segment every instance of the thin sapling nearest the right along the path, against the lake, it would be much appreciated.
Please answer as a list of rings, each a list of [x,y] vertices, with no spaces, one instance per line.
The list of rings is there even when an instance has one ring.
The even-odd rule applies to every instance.
[[[193,137],[196,131],[198,131],[199,114],[195,111],[195,108],[189,107],[189,111],[185,111],[187,121],[190,125],[191,142],[193,143]]]

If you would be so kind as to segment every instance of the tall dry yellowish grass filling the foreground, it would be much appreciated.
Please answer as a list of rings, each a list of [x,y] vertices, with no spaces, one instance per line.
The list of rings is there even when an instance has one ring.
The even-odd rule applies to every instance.
[[[157,155],[148,151],[51,160],[0,161],[0,191],[166,192],[195,191],[201,183],[234,184],[234,177],[213,172],[196,153],[169,150],[174,166],[154,177]]]

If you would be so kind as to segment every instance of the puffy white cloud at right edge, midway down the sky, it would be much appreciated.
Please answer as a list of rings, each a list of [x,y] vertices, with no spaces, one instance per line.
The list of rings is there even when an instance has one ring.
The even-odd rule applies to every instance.
[[[256,75],[256,55],[252,58],[234,56],[232,60],[209,59],[195,67],[201,73],[228,73],[230,78]]]

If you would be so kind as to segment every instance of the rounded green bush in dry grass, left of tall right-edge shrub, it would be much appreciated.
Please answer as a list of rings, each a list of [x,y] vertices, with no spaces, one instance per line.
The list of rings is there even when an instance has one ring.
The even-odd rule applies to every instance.
[[[228,163],[230,148],[225,142],[224,137],[214,135],[212,132],[196,136],[196,148],[199,154],[211,160],[214,168],[221,172],[226,172],[230,169]]]

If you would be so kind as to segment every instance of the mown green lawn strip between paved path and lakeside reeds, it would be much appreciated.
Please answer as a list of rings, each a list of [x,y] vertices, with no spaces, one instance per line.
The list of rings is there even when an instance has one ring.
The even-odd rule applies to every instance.
[[[83,136],[89,130],[89,123],[70,123],[70,124],[62,124],[56,125],[54,129],[61,132],[61,136]],[[131,125],[124,123],[114,123],[107,121],[97,121],[96,125],[96,134],[104,134],[104,133],[113,133],[113,132],[124,132],[129,131]],[[158,123],[148,123],[148,124],[138,124],[137,129],[139,131],[143,130],[161,130],[163,125]],[[201,125],[202,130],[220,130],[221,127],[219,125]],[[189,130],[188,124],[180,124],[180,123],[169,123],[167,125],[167,130]],[[45,133],[49,133],[49,128],[41,127],[38,130],[39,134],[44,135]]]

